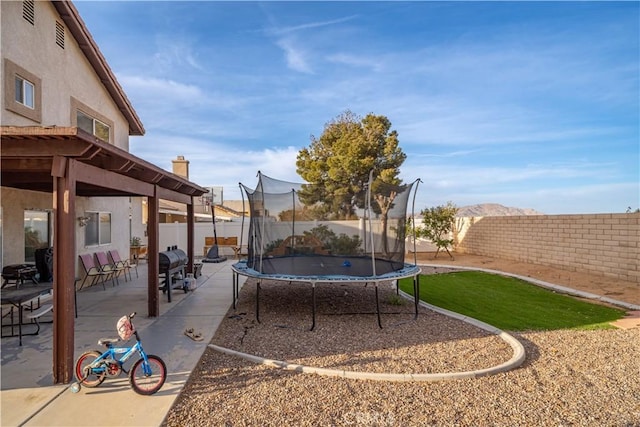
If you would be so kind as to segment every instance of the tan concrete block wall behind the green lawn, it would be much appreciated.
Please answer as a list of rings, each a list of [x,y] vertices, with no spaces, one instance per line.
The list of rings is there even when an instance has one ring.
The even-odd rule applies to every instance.
[[[640,213],[458,218],[456,251],[640,283]]]

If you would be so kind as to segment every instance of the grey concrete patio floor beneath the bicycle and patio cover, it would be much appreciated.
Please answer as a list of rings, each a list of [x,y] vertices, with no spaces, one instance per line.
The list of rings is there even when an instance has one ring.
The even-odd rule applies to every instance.
[[[69,385],[54,385],[52,376],[53,330],[45,323],[39,335],[2,339],[1,401],[3,426],[18,425],[159,425],[189,374],[213,337],[232,301],[233,260],[204,264],[197,289],[172,292],[172,302],[160,294],[160,313],[147,317],[147,266],[138,266],[133,279],[120,285],[107,283],[84,288],[77,293],[78,318],[75,319],[74,357],[100,349],[99,338],[117,337],[117,320],[137,312],[134,324],[145,351],[160,356],[169,375],[162,389],[153,396],[136,394],[126,375],[107,380],[98,388],[82,388],[78,394]],[[25,285],[28,286],[28,285]],[[51,315],[41,320],[51,320]],[[201,332],[204,340],[184,335],[186,328]],[[129,363],[127,363],[127,366]]]

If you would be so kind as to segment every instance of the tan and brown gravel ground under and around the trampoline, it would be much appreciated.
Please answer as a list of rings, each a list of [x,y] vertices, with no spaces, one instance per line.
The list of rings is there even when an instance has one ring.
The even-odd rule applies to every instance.
[[[296,292],[290,292],[291,287]],[[507,361],[511,348],[464,322],[398,303],[380,286],[255,282],[212,343],[315,367],[388,373],[467,371]],[[478,379],[379,382],[257,365],[207,349],[166,426],[640,426],[640,330],[513,333],[525,363]]]

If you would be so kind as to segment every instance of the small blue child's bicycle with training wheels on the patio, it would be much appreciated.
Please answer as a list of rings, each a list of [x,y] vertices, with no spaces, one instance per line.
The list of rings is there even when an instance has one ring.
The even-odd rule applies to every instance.
[[[115,378],[122,372],[129,375],[131,388],[142,395],[151,395],[164,384],[167,379],[167,366],[158,356],[145,353],[142,348],[142,342],[138,331],[133,326],[131,319],[136,313],[128,316],[122,316],[118,321],[118,334],[123,341],[129,340],[132,335],[136,337],[136,343],[133,347],[115,347],[120,339],[118,338],[100,338],[98,345],[107,347],[104,353],[93,350],[83,353],[75,365],[75,375],[78,382],[71,386],[71,391],[77,393],[80,391],[80,385],[85,387],[98,387],[109,378]],[[127,372],[124,363],[135,353],[140,355]],[[122,355],[118,358],[118,355]]]

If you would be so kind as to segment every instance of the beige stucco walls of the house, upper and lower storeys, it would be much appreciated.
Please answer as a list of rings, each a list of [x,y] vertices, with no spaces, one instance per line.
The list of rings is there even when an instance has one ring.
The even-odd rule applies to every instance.
[[[0,1],[0,40],[2,63],[0,82],[5,88],[5,59],[10,60],[41,82],[41,121],[37,122],[5,108],[2,90],[0,124],[3,126],[75,126],[76,107],[82,105],[109,120],[110,143],[129,150],[129,123],[101,83],[58,12],[48,1],[36,1],[34,25],[23,16],[23,2]],[[56,44],[56,22],[65,29],[64,49]],[[13,79],[12,76],[11,79]],[[9,82],[13,84],[12,81]],[[36,88],[37,90],[37,88]],[[24,262],[24,211],[52,210],[53,195],[0,187],[2,203],[2,265]],[[76,199],[75,217],[85,211],[111,212],[110,245],[87,247],[84,230],[76,222],[76,248],[79,254],[117,249],[128,258],[130,203],[122,198]],[[55,236],[53,236],[55,239]],[[78,259],[69,260],[78,266]]]

